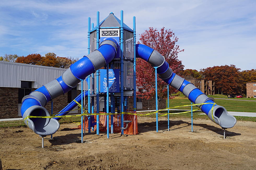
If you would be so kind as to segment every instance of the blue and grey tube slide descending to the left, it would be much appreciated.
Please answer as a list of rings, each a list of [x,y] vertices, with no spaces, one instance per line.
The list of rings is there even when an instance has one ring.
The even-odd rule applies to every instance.
[[[106,66],[114,59],[118,46],[115,39],[105,38],[98,50],[72,64],[59,78],[25,96],[22,99],[21,115],[28,127],[40,136],[54,134],[60,127],[56,119],[27,118],[25,120],[25,118],[27,116],[50,116],[44,108],[46,103],[68,92],[86,76]]]

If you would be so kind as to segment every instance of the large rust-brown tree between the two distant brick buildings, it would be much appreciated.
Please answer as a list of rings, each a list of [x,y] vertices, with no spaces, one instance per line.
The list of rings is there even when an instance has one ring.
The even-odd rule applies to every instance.
[[[200,72],[207,80],[214,80],[219,93],[240,94],[242,85],[240,77],[240,68],[235,65],[213,66],[201,69]]]

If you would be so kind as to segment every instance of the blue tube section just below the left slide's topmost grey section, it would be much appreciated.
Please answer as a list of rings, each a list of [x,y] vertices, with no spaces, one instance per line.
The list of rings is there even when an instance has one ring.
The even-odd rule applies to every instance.
[[[117,52],[115,51],[115,48],[112,45],[104,44],[100,46],[98,51],[103,55],[106,63],[109,63],[113,60]]]

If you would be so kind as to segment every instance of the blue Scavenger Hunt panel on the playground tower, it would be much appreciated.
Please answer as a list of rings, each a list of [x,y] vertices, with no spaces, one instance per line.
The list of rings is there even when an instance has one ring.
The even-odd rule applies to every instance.
[[[109,93],[119,93],[119,71],[120,69],[109,69],[108,70],[108,86]],[[100,69],[100,92],[107,92],[107,70]]]

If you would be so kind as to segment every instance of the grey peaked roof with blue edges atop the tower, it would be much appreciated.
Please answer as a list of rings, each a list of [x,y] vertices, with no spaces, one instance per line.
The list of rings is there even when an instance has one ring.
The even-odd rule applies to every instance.
[[[100,28],[102,27],[121,27],[121,20],[116,17],[113,12],[110,12],[109,16],[100,22]],[[94,27],[91,31],[96,30],[97,26]],[[124,29],[133,31],[124,23]]]

